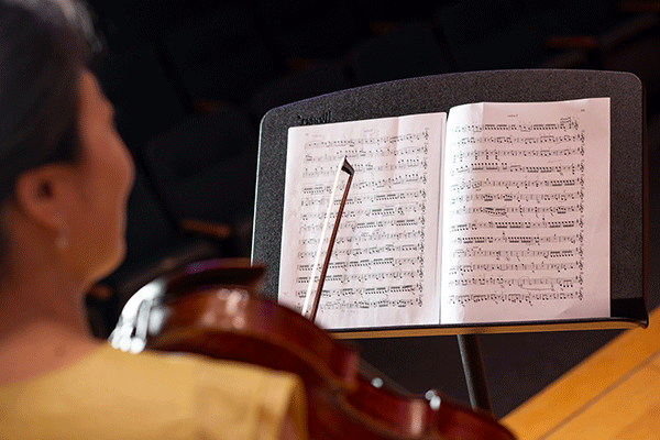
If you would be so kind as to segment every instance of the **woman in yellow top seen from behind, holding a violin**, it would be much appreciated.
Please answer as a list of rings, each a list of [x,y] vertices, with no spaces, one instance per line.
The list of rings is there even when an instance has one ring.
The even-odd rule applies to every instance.
[[[112,118],[59,10],[0,0],[0,438],[304,438],[293,375],[88,334],[133,180]]]

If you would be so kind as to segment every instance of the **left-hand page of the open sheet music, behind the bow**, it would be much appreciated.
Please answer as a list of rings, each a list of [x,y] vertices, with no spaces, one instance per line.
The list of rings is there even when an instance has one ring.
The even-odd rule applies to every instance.
[[[446,113],[428,113],[289,129],[280,302],[301,309],[337,168],[348,156],[355,174],[317,322],[330,329],[438,323],[444,123]]]

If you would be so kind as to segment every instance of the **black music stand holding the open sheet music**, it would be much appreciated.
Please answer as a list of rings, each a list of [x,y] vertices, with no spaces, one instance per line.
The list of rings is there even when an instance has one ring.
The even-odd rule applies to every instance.
[[[648,186],[644,90],[627,73],[491,70],[437,75],[343,90],[271,110],[262,120],[252,258],[268,267],[264,295],[277,299],[287,131],[321,124],[449,111],[469,102],[610,98],[610,317],[460,326],[367,328],[338,338],[458,334],[474,407],[490,410],[476,333],[646,327]]]

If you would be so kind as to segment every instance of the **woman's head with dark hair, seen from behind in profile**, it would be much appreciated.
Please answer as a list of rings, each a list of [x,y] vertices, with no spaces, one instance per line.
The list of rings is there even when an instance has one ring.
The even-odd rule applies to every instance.
[[[54,3],[0,0],[0,271],[34,246],[92,282],[123,256],[132,162]]]

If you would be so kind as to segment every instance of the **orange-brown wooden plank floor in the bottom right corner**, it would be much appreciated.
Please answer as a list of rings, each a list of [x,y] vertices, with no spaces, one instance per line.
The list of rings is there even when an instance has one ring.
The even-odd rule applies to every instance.
[[[660,439],[660,308],[501,421],[519,440]]]

